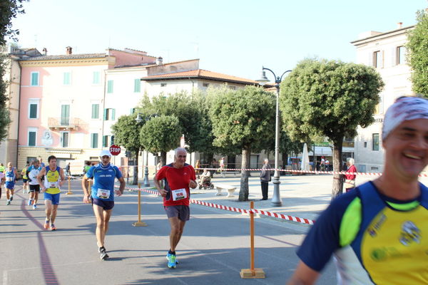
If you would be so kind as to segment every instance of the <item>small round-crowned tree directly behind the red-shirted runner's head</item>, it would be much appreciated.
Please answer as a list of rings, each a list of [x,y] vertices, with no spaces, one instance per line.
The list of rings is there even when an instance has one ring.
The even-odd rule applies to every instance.
[[[178,147],[183,130],[175,116],[151,118],[140,130],[140,142],[148,152],[161,152],[163,163],[166,152]]]

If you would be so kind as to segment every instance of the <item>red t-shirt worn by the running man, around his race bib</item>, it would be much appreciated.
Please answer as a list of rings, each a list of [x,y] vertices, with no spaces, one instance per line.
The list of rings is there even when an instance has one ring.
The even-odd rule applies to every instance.
[[[192,165],[185,163],[183,168],[175,168],[173,164],[165,165],[156,174],[156,180],[163,180],[163,188],[168,191],[163,197],[163,206],[189,205],[190,180],[196,180],[195,169]],[[187,197],[173,200],[172,191],[185,189]]]

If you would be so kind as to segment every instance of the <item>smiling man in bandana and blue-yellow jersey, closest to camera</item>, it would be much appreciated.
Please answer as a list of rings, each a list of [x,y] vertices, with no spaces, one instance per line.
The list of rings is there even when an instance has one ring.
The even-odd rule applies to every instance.
[[[384,172],[337,197],[310,229],[287,284],[315,284],[334,256],[337,284],[428,284],[428,100],[398,98],[382,128]]]

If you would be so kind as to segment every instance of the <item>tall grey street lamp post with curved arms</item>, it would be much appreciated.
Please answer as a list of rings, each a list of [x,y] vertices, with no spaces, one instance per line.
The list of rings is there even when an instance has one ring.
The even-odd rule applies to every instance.
[[[280,197],[280,172],[278,171],[278,161],[280,159],[280,83],[282,81],[282,76],[285,73],[290,71],[285,71],[282,73],[282,76],[275,76],[275,73],[271,71],[269,68],[265,68],[262,66],[262,74],[261,78],[258,81],[261,86],[265,83],[269,82],[269,79],[266,77],[266,71],[270,71],[275,78],[275,88],[276,92],[276,120],[275,120],[275,174],[273,175],[272,183],[273,183],[273,196],[272,196],[272,206],[281,207],[282,201]]]

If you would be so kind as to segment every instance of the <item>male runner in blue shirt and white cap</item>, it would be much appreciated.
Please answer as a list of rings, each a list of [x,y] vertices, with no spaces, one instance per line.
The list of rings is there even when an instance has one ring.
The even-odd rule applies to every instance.
[[[96,240],[98,245],[98,253],[100,259],[108,258],[106,248],[104,247],[104,240],[108,230],[108,221],[110,220],[111,213],[114,207],[114,195],[121,196],[125,189],[125,180],[123,180],[122,173],[118,167],[111,165],[111,153],[108,150],[102,150],[101,162],[98,165],[91,167],[86,175],[83,176],[83,202],[86,204],[91,203],[93,212],[96,217]],[[91,193],[88,191],[86,185],[87,180],[93,178],[93,185]],[[115,178],[121,183],[118,190],[114,190]]]

